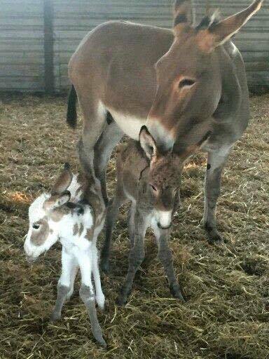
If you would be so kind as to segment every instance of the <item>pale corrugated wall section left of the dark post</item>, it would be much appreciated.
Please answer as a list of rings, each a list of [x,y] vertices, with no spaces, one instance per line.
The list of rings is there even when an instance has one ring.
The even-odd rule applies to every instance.
[[[0,0],[0,90],[43,91],[43,0]]]

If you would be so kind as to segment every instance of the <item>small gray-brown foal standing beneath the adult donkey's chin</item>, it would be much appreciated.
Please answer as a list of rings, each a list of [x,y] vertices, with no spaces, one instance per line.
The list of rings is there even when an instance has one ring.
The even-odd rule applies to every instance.
[[[174,297],[184,301],[174,273],[168,240],[172,218],[179,206],[179,186],[184,161],[204,144],[207,137],[196,146],[188,147],[179,157],[171,151],[162,153],[156,147],[156,142],[146,126],[143,126],[139,142],[131,140],[119,154],[116,195],[109,202],[106,212],[106,239],[102,249],[101,266],[103,271],[108,271],[111,235],[118,210],[120,205],[131,201],[128,229],[132,248],[129,269],[118,299],[120,305],[127,302],[135,273],[143,262],[144,236],[148,226],[151,226],[156,236],[158,257],[165,268],[170,292]]]

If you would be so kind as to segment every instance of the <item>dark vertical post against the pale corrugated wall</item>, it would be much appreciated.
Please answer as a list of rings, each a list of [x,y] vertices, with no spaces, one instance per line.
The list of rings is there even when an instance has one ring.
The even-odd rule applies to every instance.
[[[44,14],[44,83],[45,93],[54,93],[53,72],[53,3],[52,0],[43,0]]]

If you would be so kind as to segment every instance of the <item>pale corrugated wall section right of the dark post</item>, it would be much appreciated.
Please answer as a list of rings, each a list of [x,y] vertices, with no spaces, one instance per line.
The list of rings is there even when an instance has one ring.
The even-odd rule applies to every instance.
[[[147,25],[171,27],[171,0],[53,0],[55,21],[55,86],[69,84],[67,64],[71,54],[90,29],[106,20],[130,20]],[[205,14],[205,0],[195,0],[197,19]],[[231,15],[249,5],[250,0],[211,0],[210,6]],[[264,4],[235,37],[247,65],[249,84],[269,83],[269,5]]]

